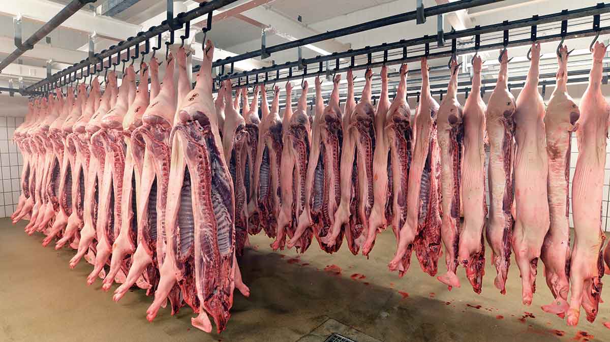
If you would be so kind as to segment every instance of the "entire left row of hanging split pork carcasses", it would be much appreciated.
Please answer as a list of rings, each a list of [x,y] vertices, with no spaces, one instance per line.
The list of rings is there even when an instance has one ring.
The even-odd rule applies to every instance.
[[[24,156],[22,193],[12,215],[43,246],[76,249],[93,265],[87,283],[103,279],[114,300],[132,285],[155,293],[152,320],[169,299],[172,314],[192,307],[192,324],[218,332],[229,319],[234,288],[249,295],[235,258],[234,196],[212,99],[213,45],[204,48],[192,88],[187,54],[113,71],[64,97],[35,99],[14,139]],[[177,66],[176,66],[177,65]],[[178,80],[174,80],[174,69]],[[150,81],[149,81],[150,77]],[[149,90],[150,82],[150,90]],[[88,89],[87,89],[88,88]],[[104,269],[104,266],[109,266]]]

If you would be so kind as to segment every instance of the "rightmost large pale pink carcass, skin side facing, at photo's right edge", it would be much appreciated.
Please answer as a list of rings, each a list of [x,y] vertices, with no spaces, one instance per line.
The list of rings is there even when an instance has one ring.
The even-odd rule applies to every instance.
[[[601,93],[602,61],[606,46],[595,43],[589,85],[584,91],[578,119],[578,160],[572,180],[572,213],[575,239],[570,255],[570,308],[567,324],[578,324],[580,307],[593,322],[601,301],[604,274],[601,248],[601,198],[608,139],[608,102]],[[519,212],[517,212],[519,215]]]

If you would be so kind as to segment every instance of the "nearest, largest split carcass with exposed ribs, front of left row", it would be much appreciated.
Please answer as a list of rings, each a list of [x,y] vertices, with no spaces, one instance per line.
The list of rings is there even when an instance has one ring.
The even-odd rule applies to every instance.
[[[212,99],[212,56],[213,46],[207,41],[195,89],[179,101],[174,118],[167,253],[147,318],[154,319],[178,282],[182,297],[198,313],[193,326],[209,332],[209,314],[221,332],[230,316],[234,288],[246,296],[249,290],[235,258],[235,199]]]

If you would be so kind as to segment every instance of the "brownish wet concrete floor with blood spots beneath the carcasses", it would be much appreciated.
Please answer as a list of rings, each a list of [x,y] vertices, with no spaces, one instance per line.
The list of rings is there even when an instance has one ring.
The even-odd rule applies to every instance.
[[[462,287],[447,291],[421,271],[415,256],[402,279],[387,270],[395,251],[391,230],[379,235],[368,260],[351,255],[345,246],[326,254],[315,241],[301,257],[293,250],[272,252],[270,239],[261,233],[250,238],[253,248],[240,260],[251,296],[235,293],[232,316],[221,335],[193,328],[193,314],[186,307],[176,316],[162,309],[149,323],[146,308],[152,299],[145,291],[113,302],[111,293],[101,290],[101,281],[86,285],[91,265],[82,260],[70,269],[72,249],[43,248],[43,235],[28,237],[24,226],[24,221],[11,226],[9,219],[0,219],[0,341],[321,342],[333,331],[359,342],[610,341],[610,329],[603,326],[610,321],[610,288],[603,292],[606,303],[594,324],[583,312],[580,326],[567,327],[540,310],[552,300],[542,263],[531,307],[521,304],[514,262],[506,296],[493,287],[495,268],[489,261],[483,294],[473,293],[463,269]],[[444,263],[439,265],[444,269]]]

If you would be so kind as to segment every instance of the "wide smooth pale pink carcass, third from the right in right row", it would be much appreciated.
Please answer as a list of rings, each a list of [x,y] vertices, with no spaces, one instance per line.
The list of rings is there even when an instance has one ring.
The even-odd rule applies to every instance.
[[[544,103],[538,93],[540,43],[531,46],[531,64],[515,110],[515,229],[512,251],[521,273],[523,304],[536,292],[538,258],[550,224]]]

